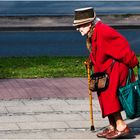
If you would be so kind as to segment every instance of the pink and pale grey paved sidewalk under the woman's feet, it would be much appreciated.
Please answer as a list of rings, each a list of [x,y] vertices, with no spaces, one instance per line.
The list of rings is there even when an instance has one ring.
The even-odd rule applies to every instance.
[[[90,131],[86,78],[0,79],[0,99],[0,139],[97,139],[108,125],[93,93]],[[126,123],[140,139],[140,119]]]

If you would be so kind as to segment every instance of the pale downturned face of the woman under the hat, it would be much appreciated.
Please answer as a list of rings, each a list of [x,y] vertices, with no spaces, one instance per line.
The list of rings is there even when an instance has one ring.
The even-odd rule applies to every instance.
[[[87,35],[90,31],[91,23],[79,25],[76,27],[76,30],[81,33],[82,36]]]

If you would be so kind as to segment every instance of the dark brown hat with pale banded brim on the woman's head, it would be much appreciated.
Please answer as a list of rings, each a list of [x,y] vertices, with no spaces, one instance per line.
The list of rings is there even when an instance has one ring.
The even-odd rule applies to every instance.
[[[73,26],[89,23],[96,18],[95,11],[92,7],[75,9]]]

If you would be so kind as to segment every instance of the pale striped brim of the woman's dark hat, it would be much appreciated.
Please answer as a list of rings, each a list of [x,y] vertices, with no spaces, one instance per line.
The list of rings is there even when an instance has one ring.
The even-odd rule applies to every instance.
[[[74,20],[73,26],[78,26],[78,25],[86,24],[86,23],[92,22],[94,19],[95,19],[95,17],[87,18],[87,19],[83,19],[83,20]]]

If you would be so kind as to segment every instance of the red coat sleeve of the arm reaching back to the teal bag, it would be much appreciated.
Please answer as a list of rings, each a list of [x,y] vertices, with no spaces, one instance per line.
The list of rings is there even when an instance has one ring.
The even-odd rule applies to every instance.
[[[116,30],[109,26],[102,28],[105,53],[128,67],[134,68],[138,59],[131,50],[128,41]]]

